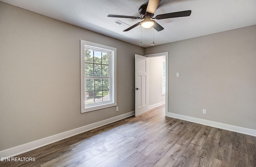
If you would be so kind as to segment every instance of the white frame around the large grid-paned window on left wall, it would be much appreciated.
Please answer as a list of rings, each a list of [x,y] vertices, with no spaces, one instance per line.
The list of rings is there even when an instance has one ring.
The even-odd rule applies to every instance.
[[[85,104],[85,77],[84,77],[84,49],[95,49],[110,52],[110,62],[109,71],[110,71],[110,101],[108,102],[100,102],[94,103],[90,105]],[[108,108],[112,106],[116,106],[116,48],[101,45],[98,43],[93,43],[89,41],[80,40],[80,69],[81,69],[81,113],[90,112],[94,110],[100,110],[103,108]]]

